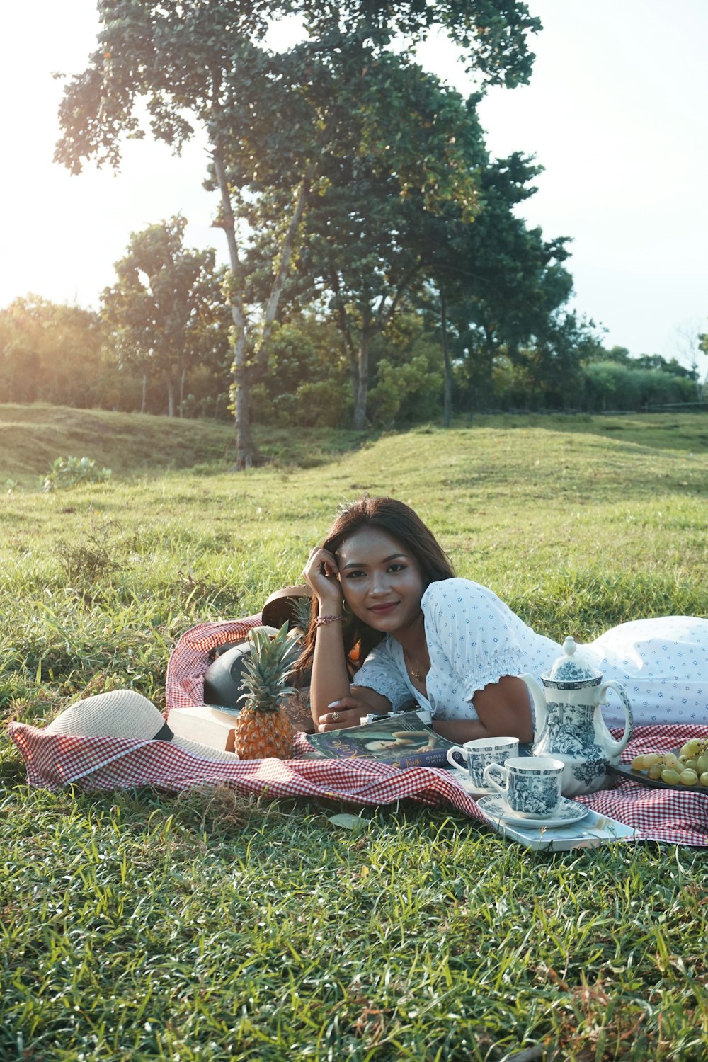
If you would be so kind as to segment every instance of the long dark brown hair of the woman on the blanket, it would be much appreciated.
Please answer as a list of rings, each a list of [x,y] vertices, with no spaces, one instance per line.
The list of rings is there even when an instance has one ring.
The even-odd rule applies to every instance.
[[[397,501],[395,498],[369,498],[364,495],[362,498],[357,498],[355,501],[342,506],[336,519],[322,543],[322,548],[330,553],[336,553],[342,543],[356,531],[361,531],[362,528],[376,528],[379,531],[385,531],[416,559],[420,567],[424,590],[431,583],[439,582],[442,579],[451,579],[454,576],[449,556],[430,528],[422,523],[410,506]],[[297,662],[297,671],[300,674],[312,666],[317,633],[314,619],[317,610],[317,598],[313,595],[305,649]],[[353,615],[343,623],[342,633],[344,652],[352,668],[363,664],[374,646],[378,645],[384,637],[380,631],[375,631]]]

